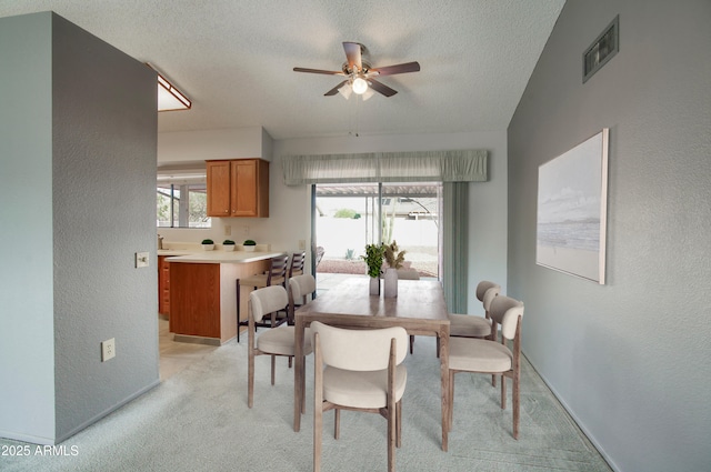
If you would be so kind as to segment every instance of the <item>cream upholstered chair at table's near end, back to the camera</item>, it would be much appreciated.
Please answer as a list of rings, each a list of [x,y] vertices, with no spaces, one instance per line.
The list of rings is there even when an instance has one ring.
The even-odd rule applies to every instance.
[[[323,412],[334,410],[333,436],[340,435],[340,410],[379,413],[388,420],[388,471],[395,470],[402,440],[402,395],[408,372],[404,328],[347,330],[311,323],[314,347],[313,470],[321,470]]]

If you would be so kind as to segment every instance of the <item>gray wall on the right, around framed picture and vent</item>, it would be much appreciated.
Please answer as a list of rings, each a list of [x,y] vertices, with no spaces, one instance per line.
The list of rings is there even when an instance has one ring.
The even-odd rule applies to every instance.
[[[620,52],[583,84],[581,54],[618,13]],[[710,23],[708,0],[569,0],[509,127],[523,351],[619,471],[711,468]],[[535,265],[535,201],[538,167],[603,127],[598,285]]]

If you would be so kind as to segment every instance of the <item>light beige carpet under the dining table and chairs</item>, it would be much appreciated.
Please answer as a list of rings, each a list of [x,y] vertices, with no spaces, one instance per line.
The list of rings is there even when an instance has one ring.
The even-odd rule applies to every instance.
[[[246,342],[223,345],[143,396],[67,440],[69,456],[0,456],[2,471],[310,471],[313,359],[307,358],[307,414],[292,429],[293,370],[257,359],[254,408],[247,408]],[[418,337],[407,360],[399,471],[610,471],[533,369],[523,363],[521,431],[499,406],[488,375],[457,375],[449,452],[441,450],[439,361]],[[511,389],[509,388],[509,394]],[[343,412],[341,438],[324,415],[323,471],[387,469],[385,420]],[[0,448],[22,443],[0,440]],[[34,450],[34,445],[31,449]]]

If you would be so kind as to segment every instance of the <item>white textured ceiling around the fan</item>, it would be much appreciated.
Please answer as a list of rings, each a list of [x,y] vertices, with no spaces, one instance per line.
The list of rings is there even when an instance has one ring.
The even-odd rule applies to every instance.
[[[53,10],[151,62],[192,101],[159,131],[261,125],[274,139],[504,130],[564,0],[0,0],[0,17]],[[323,97],[342,41],[399,93]]]

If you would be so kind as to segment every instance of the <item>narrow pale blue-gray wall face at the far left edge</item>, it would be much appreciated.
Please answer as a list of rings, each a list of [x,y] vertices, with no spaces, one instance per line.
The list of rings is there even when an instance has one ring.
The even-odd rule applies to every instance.
[[[54,436],[51,51],[49,16],[0,18],[0,434],[28,440]]]

